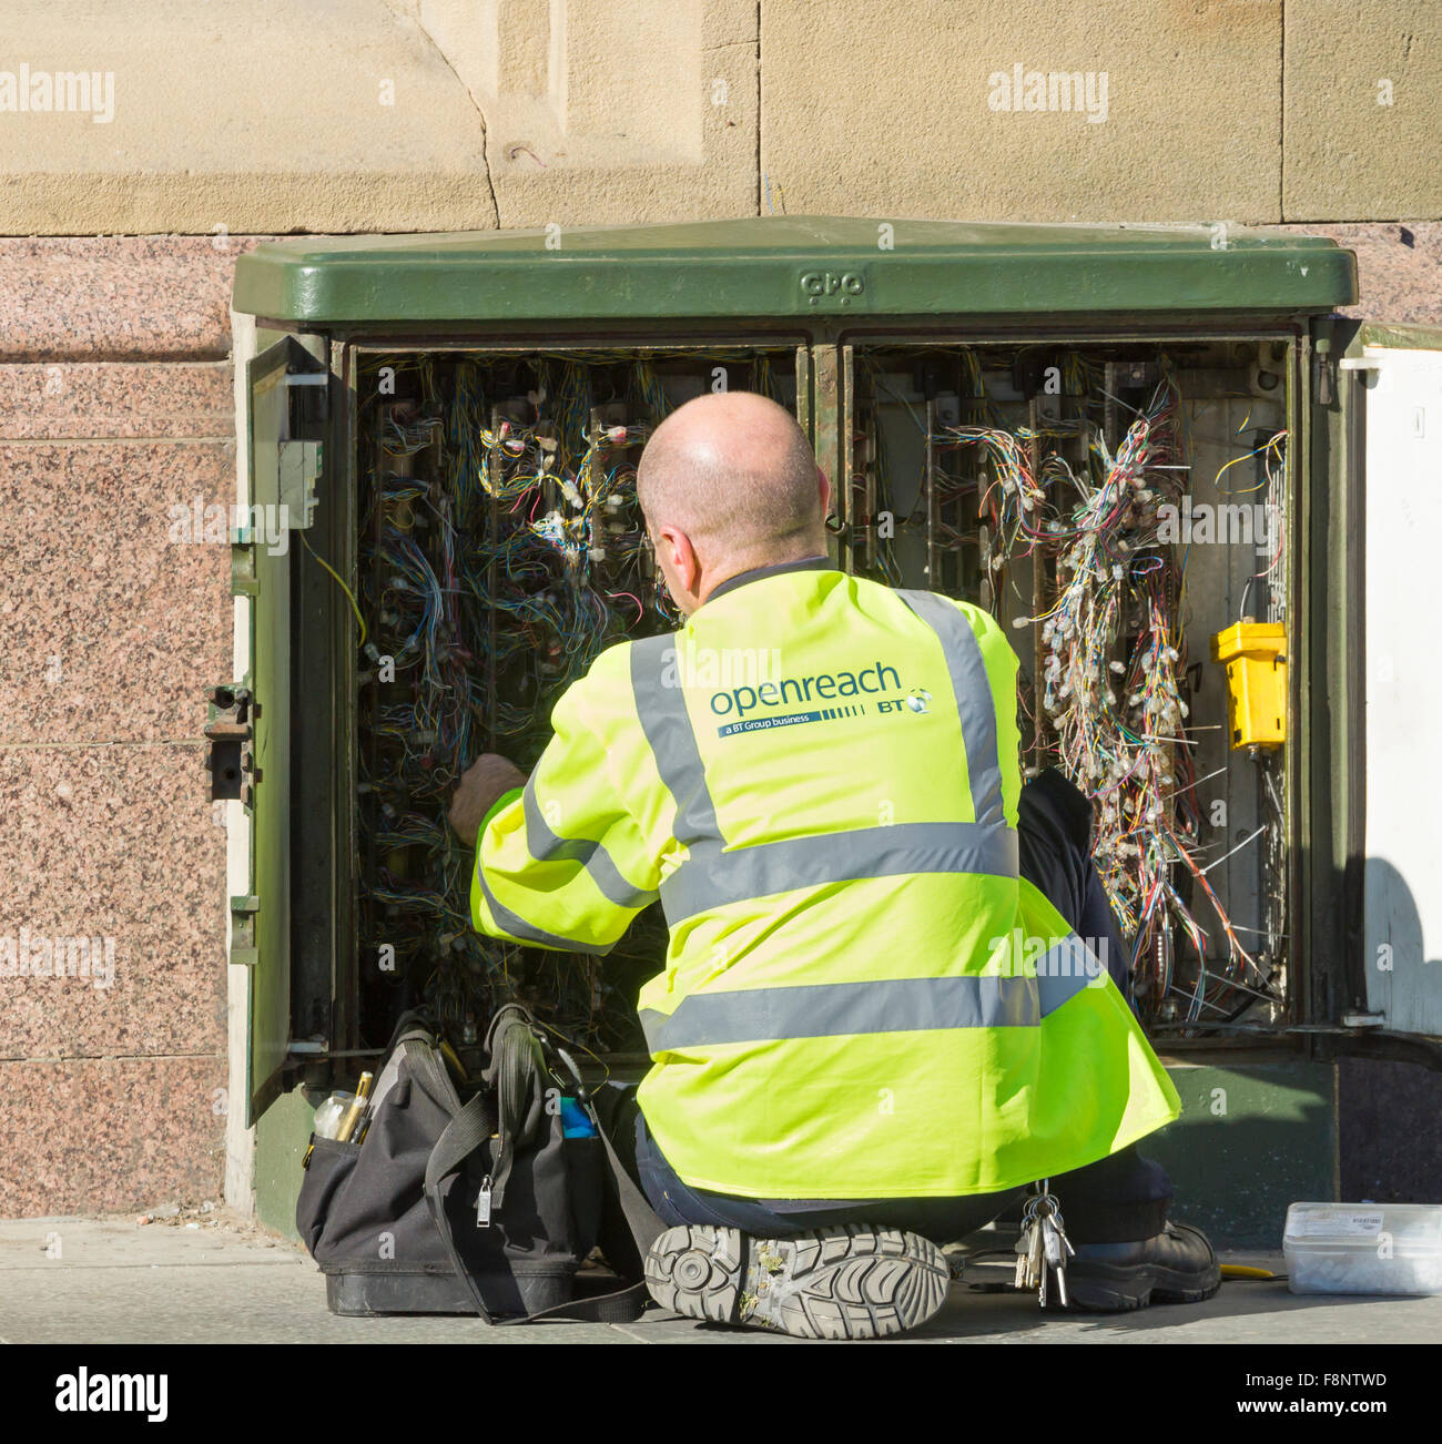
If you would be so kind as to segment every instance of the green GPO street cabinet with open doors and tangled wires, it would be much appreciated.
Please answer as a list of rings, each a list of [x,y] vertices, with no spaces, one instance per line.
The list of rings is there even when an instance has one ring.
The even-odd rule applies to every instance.
[[[605,959],[475,939],[445,797],[480,751],[533,761],[601,645],[668,627],[636,456],[730,387],[806,429],[837,565],[1007,628],[1023,761],[1094,794],[1183,1099],[1152,1142],[1178,1213],[1279,1246],[1289,1201],[1337,1196],[1337,1058],[1430,1063],[1442,1037],[1419,605],[1442,334],[1355,300],[1332,241],[1224,225],[764,217],[244,256],[236,674],[207,735],[262,1219],[292,1227],[311,1110],[406,1006],[464,1050],[514,989],[591,1069],[643,1071],[656,921]]]

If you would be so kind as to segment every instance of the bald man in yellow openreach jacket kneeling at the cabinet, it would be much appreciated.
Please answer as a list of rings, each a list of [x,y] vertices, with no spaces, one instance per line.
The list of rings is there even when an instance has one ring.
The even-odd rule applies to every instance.
[[[834,569],[828,481],[759,396],[676,410],[637,487],[685,625],[597,658],[532,777],[483,757],[452,823],[491,936],[604,953],[660,897],[633,1123],[670,1225],[652,1294],[899,1333],[945,1300],[936,1243],[1043,1178],[1074,1304],[1215,1291],[1134,1148],[1176,1093],[1095,959],[1124,980],[1085,799],[1023,794],[1001,630]]]

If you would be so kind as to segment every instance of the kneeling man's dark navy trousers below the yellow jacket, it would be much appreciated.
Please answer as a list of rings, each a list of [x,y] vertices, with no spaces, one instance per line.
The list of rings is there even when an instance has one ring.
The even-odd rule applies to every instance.
[[[1088,940],[1105,940],[1107,969],[1131,1002],[1131,979],[1117,920],[1091,861],[1091,803],[1061,773],[1042,773],[1022,788],[1017,817],[1020,871]],[[1092,943],[1095,947],[1097,944]],[[709,1223],[761,1238],[787,1238],[837,1223],[890,1225],[936,1242],[964,1238],[1016,1207],[1024,1188],[959,1199],[741,1199],[692,1188],[666,1162],[634,1097],[610,1129],[617,1149],[634,1139],[636,1174],[668,1225]],[[629,1162],[630,1160],[627,1160]],[[1162,1232],[1172,1186],[1160,1164],[1136,1147],[1050,1180],[1074,1243],[1128,1243]]]

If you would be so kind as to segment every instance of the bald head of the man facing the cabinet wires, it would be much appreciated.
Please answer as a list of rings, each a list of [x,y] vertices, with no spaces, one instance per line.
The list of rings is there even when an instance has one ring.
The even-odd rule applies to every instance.
[[[685,537],[711,585],[826,550],[826,487],[811,443],[764,396],[720,391],[672,412],[642,453],[636,490],[652,537]]]

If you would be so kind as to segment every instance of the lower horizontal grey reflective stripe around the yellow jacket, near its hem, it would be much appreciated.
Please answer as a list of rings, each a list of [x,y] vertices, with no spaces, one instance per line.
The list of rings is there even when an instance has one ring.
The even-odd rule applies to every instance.
[[[691,993],[672,1014],[642,1009],[642,1028],[652,1053],[844,1034],[1035,1028],[1097,976],[1053,972],[1084,959],[1095,969],[1091,954],[1066,940],[1037,962],[1036,978],[886,978]]]

